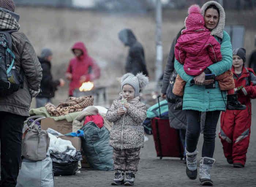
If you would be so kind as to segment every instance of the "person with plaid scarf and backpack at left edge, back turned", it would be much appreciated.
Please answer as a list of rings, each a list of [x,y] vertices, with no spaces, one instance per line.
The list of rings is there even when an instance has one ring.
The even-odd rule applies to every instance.
[[[14,67],[23,75],[23,88],[0,97],[1,187],[16,187],[21,162],[23,122],[32,97],[40,91],[42,68],[26,35],[19,32],[19,15],[12,0],[0,0],[0,30],[12,32]],[[2,64],[3,65],[3,64]]]

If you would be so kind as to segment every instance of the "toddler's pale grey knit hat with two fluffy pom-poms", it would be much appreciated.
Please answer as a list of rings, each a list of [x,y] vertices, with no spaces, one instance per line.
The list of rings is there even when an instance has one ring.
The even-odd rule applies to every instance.
[[[130,85],[134,89],[134,97],[139,96],[140,89],[148,85],[148,77],[142,73],[138,73],[136,76],[132,73],[124,74],[121,78],[121,90],[124,85]]]

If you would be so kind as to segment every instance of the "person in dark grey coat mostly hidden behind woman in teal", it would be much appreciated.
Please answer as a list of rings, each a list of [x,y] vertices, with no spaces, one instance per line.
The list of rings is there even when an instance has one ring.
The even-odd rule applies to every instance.
[[[185,27],[183,27],[181,30],[183,30]],[[161,89],[161,96],[162,98],[166,98],[166,90],[169,86],[170,78],[172,76],[177,77],[177,72],[174,69],[174,47],[177,43],[177,39],[181,35],[181,30],[178,32],[177,36],[173,39],[172,46],[168,55],[167,64],[165,67],[165,72],[163,74],[163,80],[162,80],[162,89]],[[174,75],[172,75],[174,74]],[[175,79],[174,79],[175,80]],[[167,99],[168,101],[168,99]],[[168,101],[168,108],[169,108],[169,122],[170,126],[175,129],[179,129],[180,131],[180,140],[184,148],[184,156],[185,156],[185,135],[186,135],[186,116],[185,112],[182,110],[174,110],[173,107],[175,105],[175,101],[170,102]]]

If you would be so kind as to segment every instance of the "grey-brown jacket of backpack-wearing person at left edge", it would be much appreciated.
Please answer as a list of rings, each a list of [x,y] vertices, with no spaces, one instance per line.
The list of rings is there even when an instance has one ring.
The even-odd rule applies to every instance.
[[[1,9],[0,12],[2,12]],[[14,12],[10,13],[18,15]],[[3,20],[1,17],[0,22]],[[18,20],[16,19],[16,21],[18,25]],[[29,108],[32,97],[35,97],[40,90],[39,87],[42,79],[42,68],[38,61],[37,55],[35,54],[34,48],[27,36],[18,31],[19,27],[16,29],[17,32],[12,32],[11,34],[12,51],[16,57],[15,67],[20,72],[24,72],[23,88],[6,97],[0,97],[0,111],[10,112],[20,116],[29,116]],[[0,24],[0,30],[14,29],[11,27],[11,25],[8,27],[7,24]]]

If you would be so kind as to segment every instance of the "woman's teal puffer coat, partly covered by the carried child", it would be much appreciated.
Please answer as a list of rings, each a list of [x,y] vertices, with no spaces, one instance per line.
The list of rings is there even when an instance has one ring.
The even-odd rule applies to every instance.
[[[215,38],[217,41],[221,41],[218,37],[215,36]],[[208,67],[215,76],[221,75],[225,71],[231,69],[233,62],[230,37],[226,31],[223,31],[221,54],[222,61],[214,63]],[[187,82],[184,90],[182,110],[197,110],[202,112],[226,110],[226,91],[222,91],[221,93],[217,81],[216,88],[213,89],[205,89],[205,85],[191,85],[194,76],[185,73],[183,65],[177,60],[174,62],[174,68],[180,77]]]

